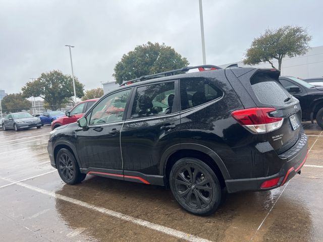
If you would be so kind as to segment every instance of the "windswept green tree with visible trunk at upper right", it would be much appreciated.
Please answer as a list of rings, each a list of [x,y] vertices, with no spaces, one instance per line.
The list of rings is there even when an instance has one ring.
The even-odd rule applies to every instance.
[[[283,26],[278,29],[267,29],[260,37],[255,38],[243,63],[245,65],[257,65],[261,62],[268,62],[272,65],[273,60],[278,60],[278,69],[282,68],[282,59],[285,56],[294,57],[303,55],[309,48],[309,41],[306,28],[299,26]]]

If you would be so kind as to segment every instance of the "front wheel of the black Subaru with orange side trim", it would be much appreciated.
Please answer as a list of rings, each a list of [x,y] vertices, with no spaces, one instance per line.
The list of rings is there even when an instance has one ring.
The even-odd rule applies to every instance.
[[[68,149],[60,149],[56,156],[56,166],[62,180],[69,185],[80,183],[86,174],[80,172],[74,155]]]

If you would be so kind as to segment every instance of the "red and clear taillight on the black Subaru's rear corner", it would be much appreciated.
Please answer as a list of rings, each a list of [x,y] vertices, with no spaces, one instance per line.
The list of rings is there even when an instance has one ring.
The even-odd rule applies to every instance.
[[[276,111],[272,107],[252,107],[235,110],[231,114],[240,125],[252,133],[267,133],[282,127],[283,117],[271,117],[269,112]]]

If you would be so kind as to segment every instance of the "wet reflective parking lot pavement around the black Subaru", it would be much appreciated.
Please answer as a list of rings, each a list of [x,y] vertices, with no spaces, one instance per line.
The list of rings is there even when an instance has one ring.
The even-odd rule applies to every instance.
[[[0,130],[0,241],[323,241],[323,131],[281,188],[230,194],[211,216],[183,211],[163,187],[88,175],[65,185],[49,164],[49,126]]]

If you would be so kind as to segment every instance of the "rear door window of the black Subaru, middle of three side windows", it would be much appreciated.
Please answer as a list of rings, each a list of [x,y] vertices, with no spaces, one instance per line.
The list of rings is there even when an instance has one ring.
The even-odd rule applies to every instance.
[[[138,87],[132,106],[131,118],[170,114],[173,111],[174,98],[174,82]]]

